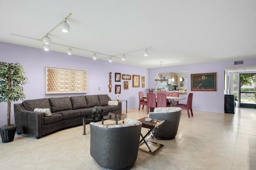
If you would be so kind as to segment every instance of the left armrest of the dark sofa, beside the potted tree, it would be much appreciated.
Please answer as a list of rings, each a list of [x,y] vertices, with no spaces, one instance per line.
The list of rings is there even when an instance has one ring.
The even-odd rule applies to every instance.
[[[14,119],[17,125],[17,133],[33,135],[36,136],[36,138],[41,137],[44,113],[28,111],[22,104],[14,104]]]

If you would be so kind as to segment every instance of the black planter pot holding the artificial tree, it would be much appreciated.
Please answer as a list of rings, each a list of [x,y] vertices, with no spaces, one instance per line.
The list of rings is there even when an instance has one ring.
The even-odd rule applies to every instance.
[[[8,143],[13,141],[16,128],[17,128],[16,125],[10,125],[10,126],[4,125],[1,127],[2,143]]]

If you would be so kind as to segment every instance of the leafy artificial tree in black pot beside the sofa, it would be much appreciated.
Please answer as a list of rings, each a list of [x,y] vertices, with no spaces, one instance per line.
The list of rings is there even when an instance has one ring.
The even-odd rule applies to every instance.
[[[0,102],[7,103],[7,125],[1,127],[2,143],[12,142],[16,125],[10,123],[11,102],[24,100],[22,85],[28,82],[24,67],[19,63],[0,62]]]

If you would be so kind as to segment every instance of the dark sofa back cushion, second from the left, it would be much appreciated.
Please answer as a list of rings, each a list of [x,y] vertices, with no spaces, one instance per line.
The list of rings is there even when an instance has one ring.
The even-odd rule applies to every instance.
[[[52,113],[62,110],[72,110],[72,104],[69,97],[49,98]]]

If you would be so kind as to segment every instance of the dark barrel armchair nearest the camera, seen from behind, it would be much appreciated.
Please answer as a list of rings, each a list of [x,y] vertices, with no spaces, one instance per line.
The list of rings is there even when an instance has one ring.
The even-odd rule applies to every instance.
[[[102,169],[129,170],[137,159],[142,123],[128,119],[122,125],[90,123],[90,154]]]

